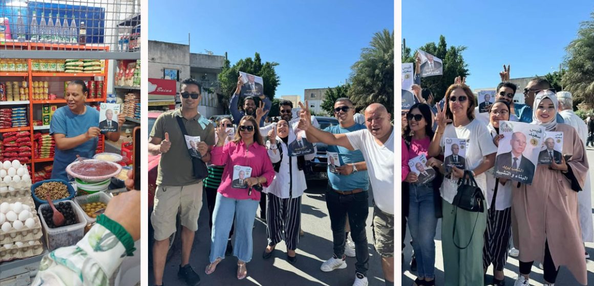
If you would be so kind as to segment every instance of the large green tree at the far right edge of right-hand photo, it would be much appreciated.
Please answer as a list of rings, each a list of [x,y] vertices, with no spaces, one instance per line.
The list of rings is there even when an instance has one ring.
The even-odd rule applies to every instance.
[[[583,21],[577,30],[577,38],[565,47],[563,76],[565,90],[573,94],[574,103],[594,104],[594,12]]]

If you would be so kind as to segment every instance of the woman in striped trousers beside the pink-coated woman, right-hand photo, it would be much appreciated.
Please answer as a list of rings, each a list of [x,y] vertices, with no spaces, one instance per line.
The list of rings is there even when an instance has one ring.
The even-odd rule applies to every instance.
[[[499,146],[499,140],[503,135],[499,134],[499,122],[510,120],[510,104],[507,101],[498,100],[488,110],[489,133],[493,138],[495,146]],[[497,197],[495,205],[489,208],[486,219],[485,246],[483,248],[483,268],[486,269],[493,264],[494,286],[503,286],[503,268],[507,261],[507,249],[510,246],[511,238],[511,182],[495,178],[495,168],[486,173],[486,197],[487,205],[493,205],[493,194],[497,185]]]

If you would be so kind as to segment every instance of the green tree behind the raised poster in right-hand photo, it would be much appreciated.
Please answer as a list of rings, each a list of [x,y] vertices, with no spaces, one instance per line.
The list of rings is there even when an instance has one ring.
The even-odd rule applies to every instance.
[[[445,42],[445,37],[443,35],[440,36],[440,40],[437,44],[435,44],[435,42],[426,43],[424,46],[419,47],[418,50],[423,50],[427,53],[430,53],[443,61],[443,75],[421,78],[422,88],[428,88],[431,90],[435,98],[435,102],[440,101],[444,97],[445,91],[447,90],[448,86],[454,83],[456,76],[466,77],[470,75],[467,69],[468,65],[462,56],[462,52],[466,50],[466,47],[447,47],[447,43]],[[412,53],[409,47],[405,47],[402,51],[402,62],[415,63],[415,53]]]

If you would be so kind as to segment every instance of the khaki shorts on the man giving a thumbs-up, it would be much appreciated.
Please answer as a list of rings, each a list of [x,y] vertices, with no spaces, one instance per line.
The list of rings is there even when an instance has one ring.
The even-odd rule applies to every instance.
[[[155,240],[168,239],[176,232],[175,219],[181,211],[182,226],[198,230],[198,214],[202,208],[202,182],[183,187],[157,186],[154,208],[150,216]]]

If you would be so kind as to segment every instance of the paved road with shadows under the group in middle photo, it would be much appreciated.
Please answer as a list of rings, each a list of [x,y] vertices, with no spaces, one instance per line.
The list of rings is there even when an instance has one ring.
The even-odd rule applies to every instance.
[[[314,185],[308,182],[308,185]],[[210,252],[210,230],[208,229],[208,211],[206,208],[200,213],[198,219],[198,232],[192,249],[191,265],[200,275],[201,285],[352,285],[355,279],[355,258],[347,258],[347,268],[337,269],[333,272],[320,271],[320,265],[332,256],[332,233],[330,218],[324,199],[326,184],[314,185],[302,198],[302,229],[305,236],[299,240],[297,249],[298,261],[291,265],[286,261],[286,246],[279,243],[276,247],[275,258],[264,260],[262,252],[266,248],[266,225],[256,219],[254,229],[254,255],[247,264],[248,277],[242,281],[236,278],[237,259],[228,256],[217,266],[211,275],[204,274],[208,264]],[[371,196],[369,198],[369,216],[367,225],[371,225],[372,211]],[[206,202],[206,199],[204,200]],[[260,210],[257,211],[257,216]],[[369,285],[384,285],[381,271],[380,256],[372,245],[371,227],[367,228],[369,248]],[[165,279],[167,285],[185,285],[177,277],[181,253],[179,250],[172,256],[165,266]],[[150,269],[149,271],[152,271]],[[149,285],[154,285],[154,278],[149,275]]]

